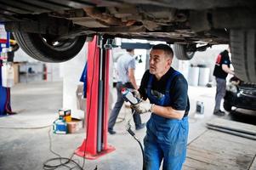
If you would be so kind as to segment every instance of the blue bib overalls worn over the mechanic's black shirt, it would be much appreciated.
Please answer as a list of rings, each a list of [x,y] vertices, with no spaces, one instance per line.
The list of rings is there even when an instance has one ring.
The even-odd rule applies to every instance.
[[[153,75],[150,76],[146,88],[146,94],[151,104],[170,106],[172,96],[170,95],[171,82],[179,75],[174,71],[168,80],[165,94],[159,99],[151,94]],[[182,120],[168,119],[152,113],[150,120],[146,123],[147,131],[144,139],[145,145],[145,169],[157,170],[163,159],[163,170],[180,170],[185,161],[186,144],[188,137],[188,118]]]

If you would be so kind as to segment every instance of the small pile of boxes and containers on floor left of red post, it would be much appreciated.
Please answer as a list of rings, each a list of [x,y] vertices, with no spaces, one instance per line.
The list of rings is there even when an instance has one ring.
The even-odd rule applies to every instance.
[[[59,119],[54,122],[54,133],[76,133],[82,128],[82,121],[79,119],[71,118],[70,109],[60,109]]]

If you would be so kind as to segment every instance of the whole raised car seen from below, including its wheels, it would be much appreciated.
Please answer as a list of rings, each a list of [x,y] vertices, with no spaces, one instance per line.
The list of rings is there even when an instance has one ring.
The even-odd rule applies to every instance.
[[[236,77],[256,82],[254,0],[0,2],[0,21],[34,59],[71,59],[96,34],[174,43],[178,59],[230,43]]]

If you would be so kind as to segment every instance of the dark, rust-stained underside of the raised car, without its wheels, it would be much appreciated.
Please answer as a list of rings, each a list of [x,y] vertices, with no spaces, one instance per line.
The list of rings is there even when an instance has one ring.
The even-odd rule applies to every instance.
[[[92,36],[101,33],[110,37],[219,44],[228,43],[228,30],[224,28],[241,26],[251,28],[255,25],[253,20],[252,22],[247,21],[247,24],[242,24],[242,20],[233,20],[235,16],[242,17],[236,13],[247,10],[246,7],[236,7],[233,4],[232,7],[225,8],[225,4],[219,4],[218,1],[215,5],[195,0],[183,2],[185,5],[182,5],[180,1],[170,1],[170,3],[168,1],[166,3],[101,1],[100,4],[89,3],[90,1],[78,4],[75,3],[76,1],[73,1],[74,4],[49,1],[44,4],[44,8],[60,5],[56,8],[57,11],[56,9],[53,11],[52,8],[43,10],[42,6],[39,8],[39,4],[33,3],[34,1],[24,2],[26,5],[24,4],[22,7],[22,4],[18,2],[8,1],[9,4],[6,5],[12,3],[16,8],[10,8],[14,10],[11,16],[3,15],[7,21],[11,21],[7,23],[6,28],[9,31],[50,34],[55,36],[55,39],[81,35]],[[31,6],[28,6],[27,3]],[[40,5],[43,4],[40,3]],[[214,6],[221,8],[213,9]],[[18,7],[22,10],[18,10]],[[32,7],[34,11],[31,13]],[[14,13],[17,11],[20,14]],[[247,14],[250,13],[255,13],[253,8],[252,11],[247,11]],[[229,25],[229,20],[232,20],[233,26]]]

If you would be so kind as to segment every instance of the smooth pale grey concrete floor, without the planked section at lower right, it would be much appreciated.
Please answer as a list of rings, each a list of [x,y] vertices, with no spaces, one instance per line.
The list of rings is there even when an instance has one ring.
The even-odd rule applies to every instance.
[[[82,144],[85,138],[83,131],[65,135],[49,132],[62,105],[62,82],[17,84],[11,89],[11,94],[12,108],[18,114],[0,118],[1,170],[43,169],[44,161],[56,157],[49,150],[48,134],[51,136],[52,149],[61,156],[71,156]],[[213,118],[214,88],[190,87],[189,95],[191,100],[189,143],[191,143],[207,130],[205,122]],[[195,115],[197,100],[204,102],[203,118]],[[117,134],[108,136],[108,143],[116,150],[94,161],[85,160],[84,169],[93,170],[96,166],[103,170],[141,169],[142,156],[139,144],[125,130],[129,113],[127,108],[122,108],[118,119],[120,122],[115,126]],[[143,122],[146,122],[149,116],[150,114],[142,115]],[[145,129],[135,133],[142,141]],[[74,156],[73,159],[82,165],[81,157]]]

